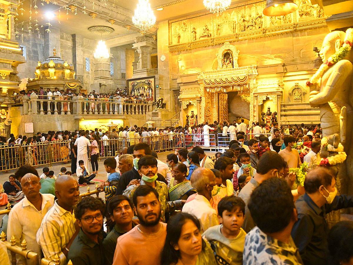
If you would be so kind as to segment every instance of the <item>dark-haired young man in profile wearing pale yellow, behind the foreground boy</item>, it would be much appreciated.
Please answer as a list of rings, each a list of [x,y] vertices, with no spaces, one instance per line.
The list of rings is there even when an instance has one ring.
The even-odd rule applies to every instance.
[[[220,157],[216,160],[215,169],[219,170],[222,177],[222,184],[218,193],[221,198],[233,195],[234,187],[231,179],[234,175],[234,160],[228,157]]]

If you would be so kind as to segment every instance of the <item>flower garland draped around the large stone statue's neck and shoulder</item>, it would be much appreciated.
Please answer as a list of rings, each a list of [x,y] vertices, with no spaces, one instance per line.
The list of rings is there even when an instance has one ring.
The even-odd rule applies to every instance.
[[[320,68],[310,78],[310,80],[306,82],[306,85],[309,87],[310,85],[317,83],[319,79],[322,77],[323,73],[328,69],[328,67],[330,67],[331,65],[334,65],[338,61],[345,58],[348,52],[352,48],[352,42],[353,42],[353,29],[349,28],[346,31],[346,37],[345,37],[345,40],[343,41],[342,47],[335,54],[331,55],[330,58],[320,66]]]

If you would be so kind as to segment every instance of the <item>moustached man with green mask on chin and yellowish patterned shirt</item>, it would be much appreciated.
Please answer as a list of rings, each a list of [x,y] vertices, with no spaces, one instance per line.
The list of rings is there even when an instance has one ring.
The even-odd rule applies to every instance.
[[[145,155],[138,160],[138,173],[141,176],[140,185],[148,185],[154,188],[159,194],[159,201],[162,210],[162,219],[165,222],[165,214],[181,208],[183,200],[168,201],[167,184],[158,181],[157,160],[152,155]],[[122,195],[132,200],[132,196],[139,185],[130,185]]]

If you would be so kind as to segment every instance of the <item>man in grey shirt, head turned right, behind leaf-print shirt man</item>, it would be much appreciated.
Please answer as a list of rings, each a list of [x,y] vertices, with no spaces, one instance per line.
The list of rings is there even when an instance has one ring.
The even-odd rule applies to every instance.
[[[238,195],[245,202],[245,219],[242,226],[245,232],[248,233],[256,225],[247,206],[253,190],[266,179],[283,175],[285,167],[285,161],[275,152],[266,152],[259,159],[259,162],[257,163],[257,172],[244,188],[240,190]]]

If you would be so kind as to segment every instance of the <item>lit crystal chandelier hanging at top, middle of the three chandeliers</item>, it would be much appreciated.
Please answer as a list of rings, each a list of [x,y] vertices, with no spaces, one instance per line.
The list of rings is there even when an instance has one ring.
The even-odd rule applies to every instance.
[[[139,0],[135,14],[132,17],[132,23],[143,33],[152,28],[156,23],[156,17],[153,14],[151,5],[148,0]]]

